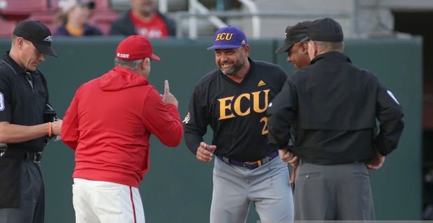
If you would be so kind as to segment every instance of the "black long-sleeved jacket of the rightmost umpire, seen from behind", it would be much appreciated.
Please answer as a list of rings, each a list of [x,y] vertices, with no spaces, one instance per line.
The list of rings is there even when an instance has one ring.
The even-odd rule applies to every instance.
[[[316,56],[295,71],[267,109],[270,144],[284,148],[298,123],[292,152],[305,162],[368,162],[397,147],[404,123],[394,95],[369,70],[340,52]],[[376,134],[376,118],[380,122]]]

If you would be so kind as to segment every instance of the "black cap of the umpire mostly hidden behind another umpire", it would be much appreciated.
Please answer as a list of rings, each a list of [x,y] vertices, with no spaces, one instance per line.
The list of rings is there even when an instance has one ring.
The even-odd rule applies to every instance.
[[[284,38],[284,44],[281,45],[275,53],[281,54],[287,52],[293,46],[293,44],[300,42],[302,38],[305,38],[308,34],[308,26],[311,21],[298,22],[294,26],[287,26]]]

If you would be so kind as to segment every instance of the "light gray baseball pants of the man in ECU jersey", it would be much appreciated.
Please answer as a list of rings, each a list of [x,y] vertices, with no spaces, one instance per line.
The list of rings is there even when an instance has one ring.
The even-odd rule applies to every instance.
[[[279,157],[247,169],[215,159],[211,223],[246,222],[254,202],[261,222],[292,222],[293,197],[288,167]]]

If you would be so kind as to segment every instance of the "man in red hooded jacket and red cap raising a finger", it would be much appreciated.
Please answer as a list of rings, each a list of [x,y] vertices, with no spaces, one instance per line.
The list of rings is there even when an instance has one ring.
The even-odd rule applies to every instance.
[[[177,99],[165,83],[149,84],[152,45],[141,36],[120,43],[115,68],[83,84],[64,116],[61,137],[75,150],[76,222],[145,222],[138,184],[149,169],[149,137],[182,140]]]

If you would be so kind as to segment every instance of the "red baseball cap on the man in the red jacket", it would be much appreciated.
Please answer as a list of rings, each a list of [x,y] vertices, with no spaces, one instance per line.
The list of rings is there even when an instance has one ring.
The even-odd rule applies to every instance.
[[[116,58],[124,61],[134,61],[146,58],[161,61],[159,56],[152,54],[152,45],[142,36],[129,36],[119,43],[116,49]]]

